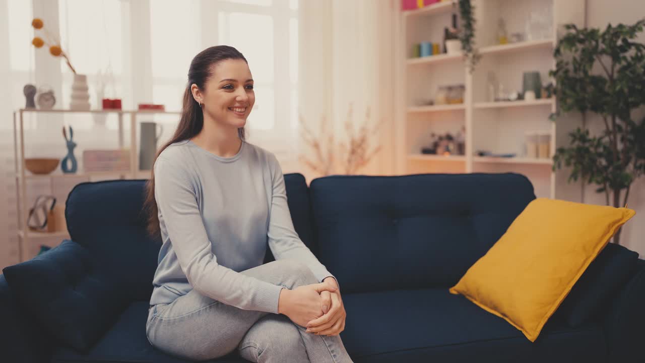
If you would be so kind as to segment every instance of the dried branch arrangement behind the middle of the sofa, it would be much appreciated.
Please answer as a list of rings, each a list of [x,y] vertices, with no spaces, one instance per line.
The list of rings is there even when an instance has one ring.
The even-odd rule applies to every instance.
[[[381,145],[371,149],[370,141],[377,139],[382,121],[369,129],[371,116],[368,107],[365,112],[365,122],[356,130],[352,123],[352,114],[352,105],[350,105],[344,125],[348,140],[341,141],[338,145],[335,143],[333,127],[329,127],[325,117],[321,119],[319,134],[314,135],[307,127],[303,116],[300,116],[300,134],[307,150],[306,154],[300,155],[299,160],[320,176],[336,174],[337,163],[341,172],[348,175],[355,174],[367,165],[381,150]]]

